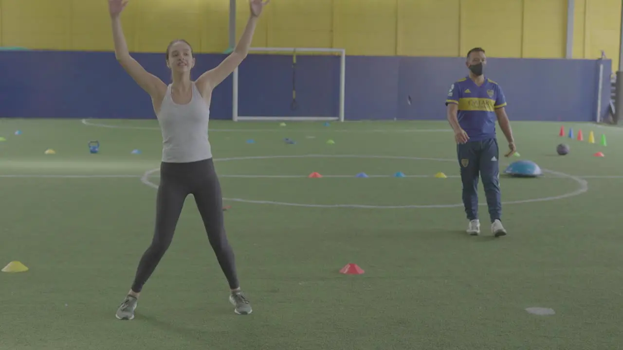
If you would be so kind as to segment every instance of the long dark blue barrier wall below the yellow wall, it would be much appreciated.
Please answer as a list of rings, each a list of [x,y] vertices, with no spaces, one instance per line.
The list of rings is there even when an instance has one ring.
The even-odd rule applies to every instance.
[[[170,82],[164,54],[133,56]],[[193,78],[224,57],[197,55]],[[464,62],[460,57],[349,56],[346,119],[444,119],[450,85],[467,74]],[[513,120],[591,121],[596,117],[599,62],[490,58],[487,77],[502,86]],[[603,64],[606,115],[611,60]],[[297,56],[296,110],[291,108],[291,55],[249,55],[239,73],[239,115],[338,115],[339,57]],[[1,117],[155,118],[150,98],[111,52],[0,52],[0,77]],[[231,119],[232,77],[214,91],[211,113],[214,119]]]

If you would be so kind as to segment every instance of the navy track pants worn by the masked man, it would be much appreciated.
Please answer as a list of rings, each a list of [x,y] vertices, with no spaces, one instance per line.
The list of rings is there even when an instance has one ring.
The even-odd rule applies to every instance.
[[[457,156],[461,167],[463,204],[467,219],[478,219],[478,181],[481,176],[491,222],[495,219],[501,220],[502,195],[500,193],[498,141],[490,138],[457,144]]]

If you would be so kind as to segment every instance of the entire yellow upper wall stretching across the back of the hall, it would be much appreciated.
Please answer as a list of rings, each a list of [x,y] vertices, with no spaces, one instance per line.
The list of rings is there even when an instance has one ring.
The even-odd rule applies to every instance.
[[[249,1],[236,0],[236,40]],[[561,58],[567,0],[273,0],[254,47],[335,47],[350,55]],[[106,0],[0,0],[2,45],[112,50]],[[575,0],[573,57],[605,50],[618,64],[621,1]],[[164,52],[186,39],[195,52],[229,45],[229,0],[130,0],[123,31],[131,51]]]

